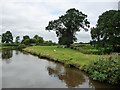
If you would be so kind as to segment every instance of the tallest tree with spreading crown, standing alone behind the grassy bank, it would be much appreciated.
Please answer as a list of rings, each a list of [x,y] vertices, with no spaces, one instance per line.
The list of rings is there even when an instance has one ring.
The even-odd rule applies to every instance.
[[[56,31],[59,38],[59,44],[67,45],[68,47],[74,41],[76,32],[84,29],[87,31],[89,28],[89,22],[86,19],[87,15],[79,12],[75,8],[69,9],[65,15],[59,17],[59,19],[50,21],[46,30]]]

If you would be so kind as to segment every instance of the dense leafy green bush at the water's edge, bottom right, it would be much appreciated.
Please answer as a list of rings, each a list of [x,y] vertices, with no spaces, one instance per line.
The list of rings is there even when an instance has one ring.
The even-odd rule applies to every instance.
[[[93,80],[120,84],[120,56],[100,58],[84,68]]]

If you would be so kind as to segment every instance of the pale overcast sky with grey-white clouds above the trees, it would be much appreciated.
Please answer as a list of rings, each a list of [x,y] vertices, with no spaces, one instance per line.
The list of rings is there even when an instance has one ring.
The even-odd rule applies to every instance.
[[[57,42],[55,32],[46,31],[50,20],[58,19],[70,8],[88,15],[90,26],[96,25],[98,16],[107,10],[118,10],[119,0],[0,0],[0,29],[10,30],[13,36],[35,34],[45,40]],[[78,42],[88,42],[90,30],[77,33]]]

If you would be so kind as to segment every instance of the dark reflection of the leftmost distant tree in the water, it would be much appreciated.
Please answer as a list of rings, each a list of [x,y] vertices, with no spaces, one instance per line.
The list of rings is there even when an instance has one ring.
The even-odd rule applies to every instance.
[[[13,56],[12,50],[2,50],[2,60],[6,60],[6,63],[10,63],[10,58]]]

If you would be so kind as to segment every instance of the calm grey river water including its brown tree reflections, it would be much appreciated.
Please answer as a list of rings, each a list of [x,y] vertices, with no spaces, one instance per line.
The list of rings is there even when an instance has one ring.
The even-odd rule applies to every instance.
[[[92,81],[76,68],[16,50],[0,51],[3,88],[111,88]]]

